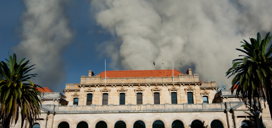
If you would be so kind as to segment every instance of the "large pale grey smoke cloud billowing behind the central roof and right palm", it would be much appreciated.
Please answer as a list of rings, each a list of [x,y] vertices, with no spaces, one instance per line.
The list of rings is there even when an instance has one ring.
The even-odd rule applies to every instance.
[[[228,87],[232,79],[225,72],[242,54],[235,50],[240,41],[272,30],[271,5],[270,0],[91,2],[97,24],[122,42],[103,43],[104,53],[119,60],[112,69],[116,63],[128,70],[171,69],[174,58],[181,72],[195,66],[201,80],[222,80]]]

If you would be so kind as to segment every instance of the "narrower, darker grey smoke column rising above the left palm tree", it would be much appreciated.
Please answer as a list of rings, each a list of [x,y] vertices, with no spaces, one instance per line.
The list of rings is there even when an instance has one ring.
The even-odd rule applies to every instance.
[[[13,47],[18,58],[26,57],[36,64],[32,73],[40,78],[36,84],[60,91],[65,79],[62,52],[73,39],[64,0],[23,0],[26,10],[21,17],[21,41]],[[59,88],[58,88],[59,87]]]

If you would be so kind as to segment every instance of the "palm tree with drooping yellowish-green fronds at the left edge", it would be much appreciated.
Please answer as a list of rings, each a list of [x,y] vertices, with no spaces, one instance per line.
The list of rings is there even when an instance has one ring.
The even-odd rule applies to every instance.
[[[19,113],[21,116],[21,128],[26,120],[29,128],[33,121],[39,118],[41,102],[38,96],[41,92],[36,89],[32,79],[37,74],[27,74],[34,65],[27,66],[29,60],[22,63],[16,62],[16,55],[10,56],[8,62],[0,62],[0,121],[2,128],[9,128],[13,121],[18,121]],[[25,83],[27,82],[27,83]],[[40,86],[38,86],[40,87]],[[11,124],[10,124],[11,123]]]

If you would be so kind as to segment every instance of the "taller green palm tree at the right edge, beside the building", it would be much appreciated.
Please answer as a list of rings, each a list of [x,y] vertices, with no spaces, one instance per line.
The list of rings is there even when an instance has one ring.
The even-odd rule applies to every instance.
[[[272,93],[272,45],[268,48],[268,44],[271,38],[272,36],[268,32],[265,38],[261,40],[258,32],[257,40],[250,38],[251,44],[244,40],[241,46],[244,50],[236,50],[246,55],[240,55],[244,58],[234,59],[232,68],[226,72],[226,76],[229,75],[229,77],[236,74],[232,80],[232,93],[236,85],[238,87],[236,96],[241,94],[241,99],[246,105],[249,102],[250,108],[252,102],[255,109],[259,102],[267,102],[270,115],[272,112],[272,94],[270,95]]]

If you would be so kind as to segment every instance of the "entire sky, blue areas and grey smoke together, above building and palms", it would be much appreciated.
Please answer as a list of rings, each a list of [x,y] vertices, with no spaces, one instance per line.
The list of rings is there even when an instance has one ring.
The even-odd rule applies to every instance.
[[[200,80],[230,88],[226,71],[243,54],[235,49],[257,32],[264,37],[272,31],[271,5],[271,0],[0,0],[0,60],[8,51],[32,59],[37,64],[32,73],[40,75],[34,82],[57,92],[66,83],[80,83],[88,70],[103,72],[105,59],[107,70],[150,70],[172,69],[174,58],[174,69],[192,68]]]

